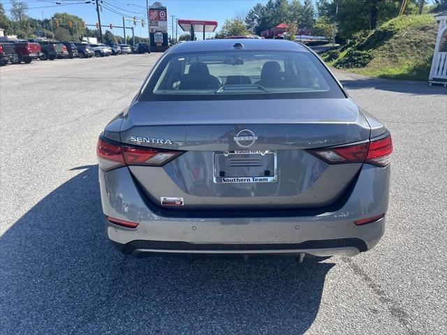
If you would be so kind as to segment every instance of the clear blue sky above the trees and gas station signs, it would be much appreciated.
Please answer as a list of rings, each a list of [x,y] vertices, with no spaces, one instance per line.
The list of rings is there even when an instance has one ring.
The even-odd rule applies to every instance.
[[[21,0],[27,3],[29,10],[27,15],[36,19],[42,17],[50,18],[54,13],[66,12],[78,15],[87,24],[96,24],[98,17],[92,3],[85,3],[89,0]],[[101,11],[101,24],[108,25],[112,23],[115,26],[122,26],[122,16],[143,17],[146,14],[145,0],[98,0],[103,3]],[[228,18],[235,17],[236,13],[247,13],[256,3],[266,3],[268,0],[161,0],[163,6],[168,9],[168,34],[171,34],[172,25],[170,15],[175,15],[177,19],[197,19],[197,20],[214,20],[219,26]],[[6,15],[10,14],[11,0],[0,0],[6,10]],[[61,3],[57,5],[56,3]],[[100,2],[101,3],[101,2]],[[149,0],[149,5],[154,0]],[[108,8],[105,8],[107,6]],[[112,10],[118,12],[113,13]],[[147,21],[147,20],[145,20]],[[147,22],[146,22],[147,23]],[[131,27],[133,23],[128,22],[126,26]],[[219,26],[216,31],[219,31]],[[105,28],[103,28],[105,29]],[[175,27],[174,27],[175,29]],[[110,30],[110,29],[109,29]],[[122,29],[114,28],[112,32],[122,35]],[[181,29],[178,28],[178,34]],[[129,33],[128,33],[129,34]],[[135,26],[135,35],[147,37],[147,26],[141,27],[140,22]],[[197,38],[201,38],[202,34],[197,34]],[[207,34],[207,38],[213,34]]]

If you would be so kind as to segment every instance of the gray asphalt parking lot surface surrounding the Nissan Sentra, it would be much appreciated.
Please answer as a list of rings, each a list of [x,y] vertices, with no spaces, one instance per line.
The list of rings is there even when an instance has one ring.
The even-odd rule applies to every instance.
[[[356,258],[124,257],[95,144],[160,54],[0,68],[0,334],[447,334],[447,90],[337,72],[395,154],[387,231]]]

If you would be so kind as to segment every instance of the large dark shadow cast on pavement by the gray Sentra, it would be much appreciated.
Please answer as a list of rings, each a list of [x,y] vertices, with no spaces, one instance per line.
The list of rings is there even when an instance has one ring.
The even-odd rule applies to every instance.
[[[1,334],[302,334],[333,263],[135,259],[103,232],[90,165],[0,237]]]

